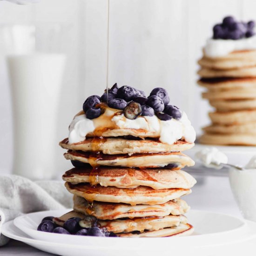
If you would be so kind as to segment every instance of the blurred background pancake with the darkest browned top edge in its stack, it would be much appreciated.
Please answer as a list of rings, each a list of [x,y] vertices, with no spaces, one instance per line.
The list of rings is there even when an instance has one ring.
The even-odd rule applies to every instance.
[[[200,79],[197,84],[211,92],[256,88],[256,77]]]

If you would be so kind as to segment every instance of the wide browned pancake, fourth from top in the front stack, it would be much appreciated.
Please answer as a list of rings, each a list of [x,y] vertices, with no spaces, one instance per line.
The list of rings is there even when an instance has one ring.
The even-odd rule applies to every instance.
[[[172,169],[135,169],[135,168],[73,168],[67,171],[63,180],[73,184],[89,182],[92,186],[113,186],[117,188],[136,188],[147,186],[153,189],[190,189],[195,179],[182,170]]]

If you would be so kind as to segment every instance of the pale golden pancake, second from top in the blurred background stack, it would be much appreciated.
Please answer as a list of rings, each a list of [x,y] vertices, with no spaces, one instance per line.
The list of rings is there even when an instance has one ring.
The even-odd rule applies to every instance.
[[[198,61],[201,67],[213,68],[213,69],[235,69],[243,67],[256,66],[256,58],[248,59],[212,59],[208,57],[202,57]]]

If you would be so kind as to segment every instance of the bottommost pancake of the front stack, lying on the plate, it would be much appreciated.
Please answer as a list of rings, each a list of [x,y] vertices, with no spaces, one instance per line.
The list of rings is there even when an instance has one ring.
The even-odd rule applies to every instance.
[[[189,236],[194,232],[194,228],[190,224],[180,224],[177,227],[159,229],[154,231],[131,232],[116,234],[121,237],[164,237],[164,236]]]

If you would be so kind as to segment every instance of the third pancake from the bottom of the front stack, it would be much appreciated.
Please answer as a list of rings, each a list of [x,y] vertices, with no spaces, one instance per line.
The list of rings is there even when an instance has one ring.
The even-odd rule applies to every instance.
[[[118,218],[136,217],[163,217],[168,215],[185,214],[190,207],[188,204],[177,198],[163,204],[144,205],[137,204],[131,206],[126,203],[97,202],[88,203],[83,197],[74,195],[74,210],[88,214],[101,220],[114,220]]]

